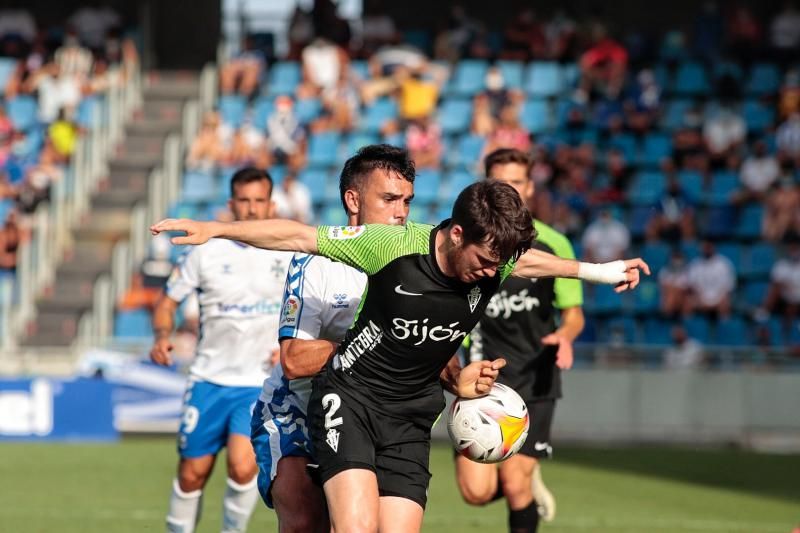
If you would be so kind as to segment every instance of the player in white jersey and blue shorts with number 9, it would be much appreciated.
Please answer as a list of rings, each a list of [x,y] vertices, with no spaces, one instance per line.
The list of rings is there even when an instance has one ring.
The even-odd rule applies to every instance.
[[[228,206],[236,220],[271,218],[272,180],[245,168],[231,179]],[[212,239],[190,249],[175,267],[153,314],[151,359],[171,364],[170,336],[178,305],[191,293],[200,304],[200,339],[190,369],[178,436],[167,531],[194,531],[203,488],[217,453],[228,448],[223,532],[240,532],[258,502],[258,468],[250,417],[260,385],[277,362],[278,318],[291,252]]]

